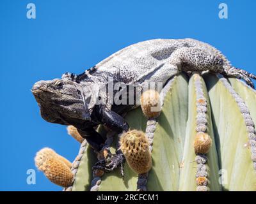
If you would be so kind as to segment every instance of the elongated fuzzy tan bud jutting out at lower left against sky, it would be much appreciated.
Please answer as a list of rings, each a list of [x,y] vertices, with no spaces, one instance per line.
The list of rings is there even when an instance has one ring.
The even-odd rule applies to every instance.
[[[35,164],[38,170],[54,184],[62,187],[72,185],[74,175],[70,170],[71,163],[49,148],[41,149],[36,153]]]

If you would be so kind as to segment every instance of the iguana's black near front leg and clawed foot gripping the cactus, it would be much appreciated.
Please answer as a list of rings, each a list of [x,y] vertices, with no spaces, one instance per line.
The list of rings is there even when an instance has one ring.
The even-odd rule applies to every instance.
[[[107,110],[104,106],[99,108],[99,119],[101,120],[102,124],[104,124],[109,129],[115,131],[116,133],[123,133],[125,131],[129,130],[129,126],[127,122],[123,119],[121,115],[118,115],[118,113],[115,113],[111,110]],[[121,150],[118,150],[119,148],[119,142],[117,142],[116,145],[116,154],[111,154],[109,149],[108,155],[109,157],[107,159],[102,159],[101,161],[97,162],[95,166],[93,166],[93,169],[100,169],[104,171],[113,171],[115,168],[120,166],[121,175],[124,177],[124,162],[125,157]]]

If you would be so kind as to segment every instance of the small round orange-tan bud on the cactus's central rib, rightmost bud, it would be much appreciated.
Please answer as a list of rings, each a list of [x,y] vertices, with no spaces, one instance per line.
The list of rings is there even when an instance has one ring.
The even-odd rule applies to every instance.
[[[195,136],[194,149],[196,154],[207,154],[212,145],[212,139],[206,133],[197,133]]]

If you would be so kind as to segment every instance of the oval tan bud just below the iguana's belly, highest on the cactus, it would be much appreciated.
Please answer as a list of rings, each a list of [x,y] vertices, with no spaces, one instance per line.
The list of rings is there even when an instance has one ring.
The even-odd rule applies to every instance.
[[[161,113],[161,101],[157,91],[149,89],[141,95],[141,109],[147,118],[156,118]]]

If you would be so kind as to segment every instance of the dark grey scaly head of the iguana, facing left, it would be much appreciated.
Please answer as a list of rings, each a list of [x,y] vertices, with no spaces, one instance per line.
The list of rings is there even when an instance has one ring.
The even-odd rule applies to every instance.
[[[90,85],[62,78],[36,82],[31,91],[48,122],[69,125],[91,119],[95,104]]]

